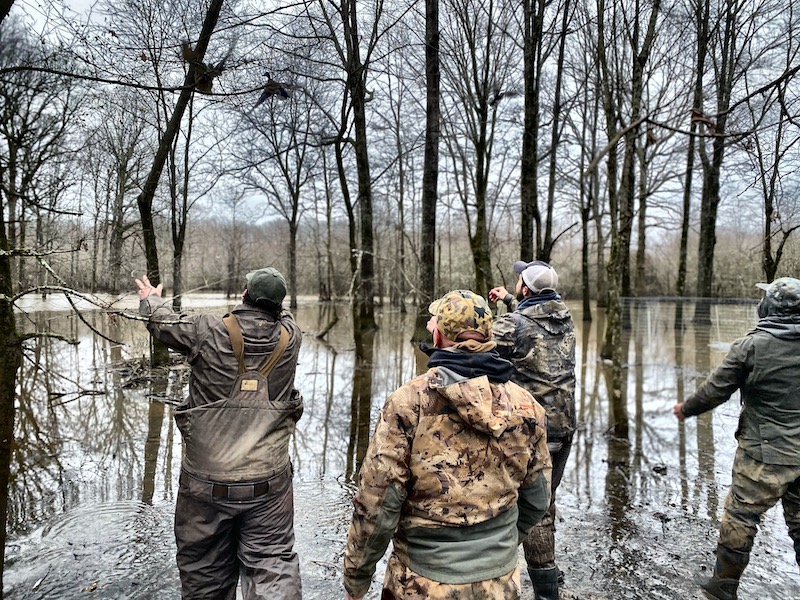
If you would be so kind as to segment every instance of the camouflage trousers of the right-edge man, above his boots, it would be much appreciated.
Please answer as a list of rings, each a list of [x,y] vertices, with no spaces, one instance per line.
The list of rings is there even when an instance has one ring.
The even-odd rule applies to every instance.
[[[800,465],[762,463],[738,448],[719,528],[719,543],[749,553],[761,516],[778,501],[783,503],[783,516],[800,564]]]

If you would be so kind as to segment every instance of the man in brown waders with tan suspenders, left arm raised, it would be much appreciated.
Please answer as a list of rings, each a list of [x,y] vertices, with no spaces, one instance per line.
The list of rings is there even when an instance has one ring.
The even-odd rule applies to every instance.
[[[175,506],[182,597],[299,599],[289,439],[303,412],[294,388],[301,332],[273,268],[247,275],[223,317],[175,313],[162,286],[136,280],[152,336],[188,358],[189,395],[175,411],[183,464]]]

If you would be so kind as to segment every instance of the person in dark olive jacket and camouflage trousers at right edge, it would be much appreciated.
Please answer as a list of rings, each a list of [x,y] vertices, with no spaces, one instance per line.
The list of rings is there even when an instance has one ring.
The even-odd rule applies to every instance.
[[[736,600],[761,516],[778,501],[800,565],[800,280],[781,277],[757,286],[766,293],[755,329],[733,342],[722,364],[673,408],[682,421],[741,394],[739,447],[717,560],[702,584],[715,600]]]

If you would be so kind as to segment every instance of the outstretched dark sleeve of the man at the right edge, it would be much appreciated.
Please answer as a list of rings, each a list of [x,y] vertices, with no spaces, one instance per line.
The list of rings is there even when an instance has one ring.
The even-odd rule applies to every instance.
[[[708,379],[683,404],[683,414],[695,417],[726,402],[740,389],[753,369],[753,340],[739,338]]]

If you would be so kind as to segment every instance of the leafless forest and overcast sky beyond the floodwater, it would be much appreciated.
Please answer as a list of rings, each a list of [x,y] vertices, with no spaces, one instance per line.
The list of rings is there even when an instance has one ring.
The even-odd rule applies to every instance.
[[[800,272],[796,13],[3,1],[0,465],[23,350],[47,335],[18,333],[17,299],[127,294],[147,273],[177,305],[238,294],[266,264],[291,305],[350,299],[371,360],[376,302],[424,312],[448,288],[512,285],[520,257],[552,261],[584,318],[592,299],[606,311],[626,437],[623,299],[755,298],[755,281]]]

